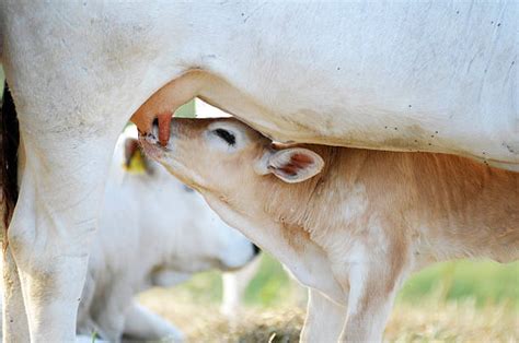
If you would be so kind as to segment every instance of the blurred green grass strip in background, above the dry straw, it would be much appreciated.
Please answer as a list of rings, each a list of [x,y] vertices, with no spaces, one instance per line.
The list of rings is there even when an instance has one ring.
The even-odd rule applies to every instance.
[[[293,282],[272,257],[264,256],[256,276],[245,292],[245,304],[273,307],[293,300]],[[177,292],[191,294],[195,301],[221,299],[217,272],[196,275]],[[424,298],[440,301],[474,300],[476,306],[510,305],[519,309],[519,262],[499,264],[491,261],[437,263],[412,275],[397,296],[397,303],[417,305]]]

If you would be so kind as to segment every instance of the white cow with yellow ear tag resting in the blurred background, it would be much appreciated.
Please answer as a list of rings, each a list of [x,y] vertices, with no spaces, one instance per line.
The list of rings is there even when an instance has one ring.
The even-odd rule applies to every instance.
[[[78,333],[91,336],[95,332],[111,342],[122,335],[181,340],[177,329],[137,304],[134,296],[152,286],[171,287],[196,272],[241,268],[257,252],[201,196],[143,157],[137,140],[127,132],[116,145],[106,182],[100,230],[79,305]],[[234,273],[226,276],[229,300],[222,306],[232,315],[240,303],[240,289],[234,288],[246,282],[237,284]]]

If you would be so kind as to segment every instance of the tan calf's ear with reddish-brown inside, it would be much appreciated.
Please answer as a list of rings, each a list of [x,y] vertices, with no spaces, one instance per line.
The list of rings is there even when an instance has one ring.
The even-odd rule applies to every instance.
[[[288,147],[268,157],[267,169],[285,182],[296,184],[318,175],[324,167],[323,158],[311,150]]]

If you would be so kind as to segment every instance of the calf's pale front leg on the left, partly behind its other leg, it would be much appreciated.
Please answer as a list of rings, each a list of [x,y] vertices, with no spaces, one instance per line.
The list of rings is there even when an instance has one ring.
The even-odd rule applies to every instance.
[[[346,307],[309,288],[301,342],[337,342],[346,319]]]

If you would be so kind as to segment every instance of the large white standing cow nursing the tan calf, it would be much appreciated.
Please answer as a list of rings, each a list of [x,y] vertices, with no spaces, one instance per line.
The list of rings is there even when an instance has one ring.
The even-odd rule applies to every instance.
[[[0,54],[24,162],[4,336],[73,339],[109,152],[143,103],[142,131],[199,95],[280,141],[517,169],[517,16],[515,1],[2,1]],[[15,197],[4,196],[9,215]]]

